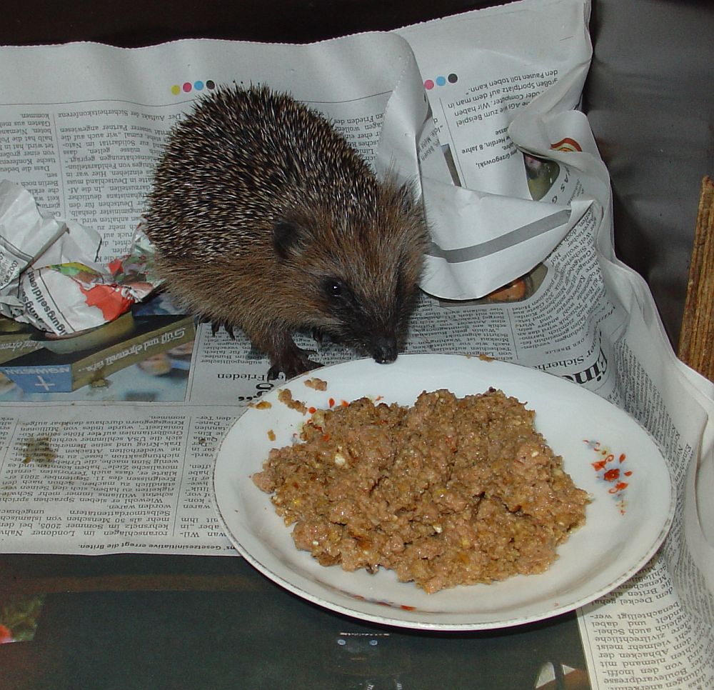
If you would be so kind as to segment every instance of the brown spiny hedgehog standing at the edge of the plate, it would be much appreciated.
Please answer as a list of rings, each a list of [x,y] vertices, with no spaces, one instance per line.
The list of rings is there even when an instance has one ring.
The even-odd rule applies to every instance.
[[[214,333],[242,329],[268,379],[321,366],[296,331],[394,361],[428,246],[410,182],[378,179],[328,119],[266,86],[218,88],[175,126],[146,234],[169,293]]]

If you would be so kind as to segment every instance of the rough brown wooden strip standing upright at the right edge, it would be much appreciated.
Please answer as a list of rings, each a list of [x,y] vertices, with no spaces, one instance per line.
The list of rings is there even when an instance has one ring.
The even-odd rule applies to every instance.
[[[702,180],[678,356],[714,381],[714,182],[708,176]]]

